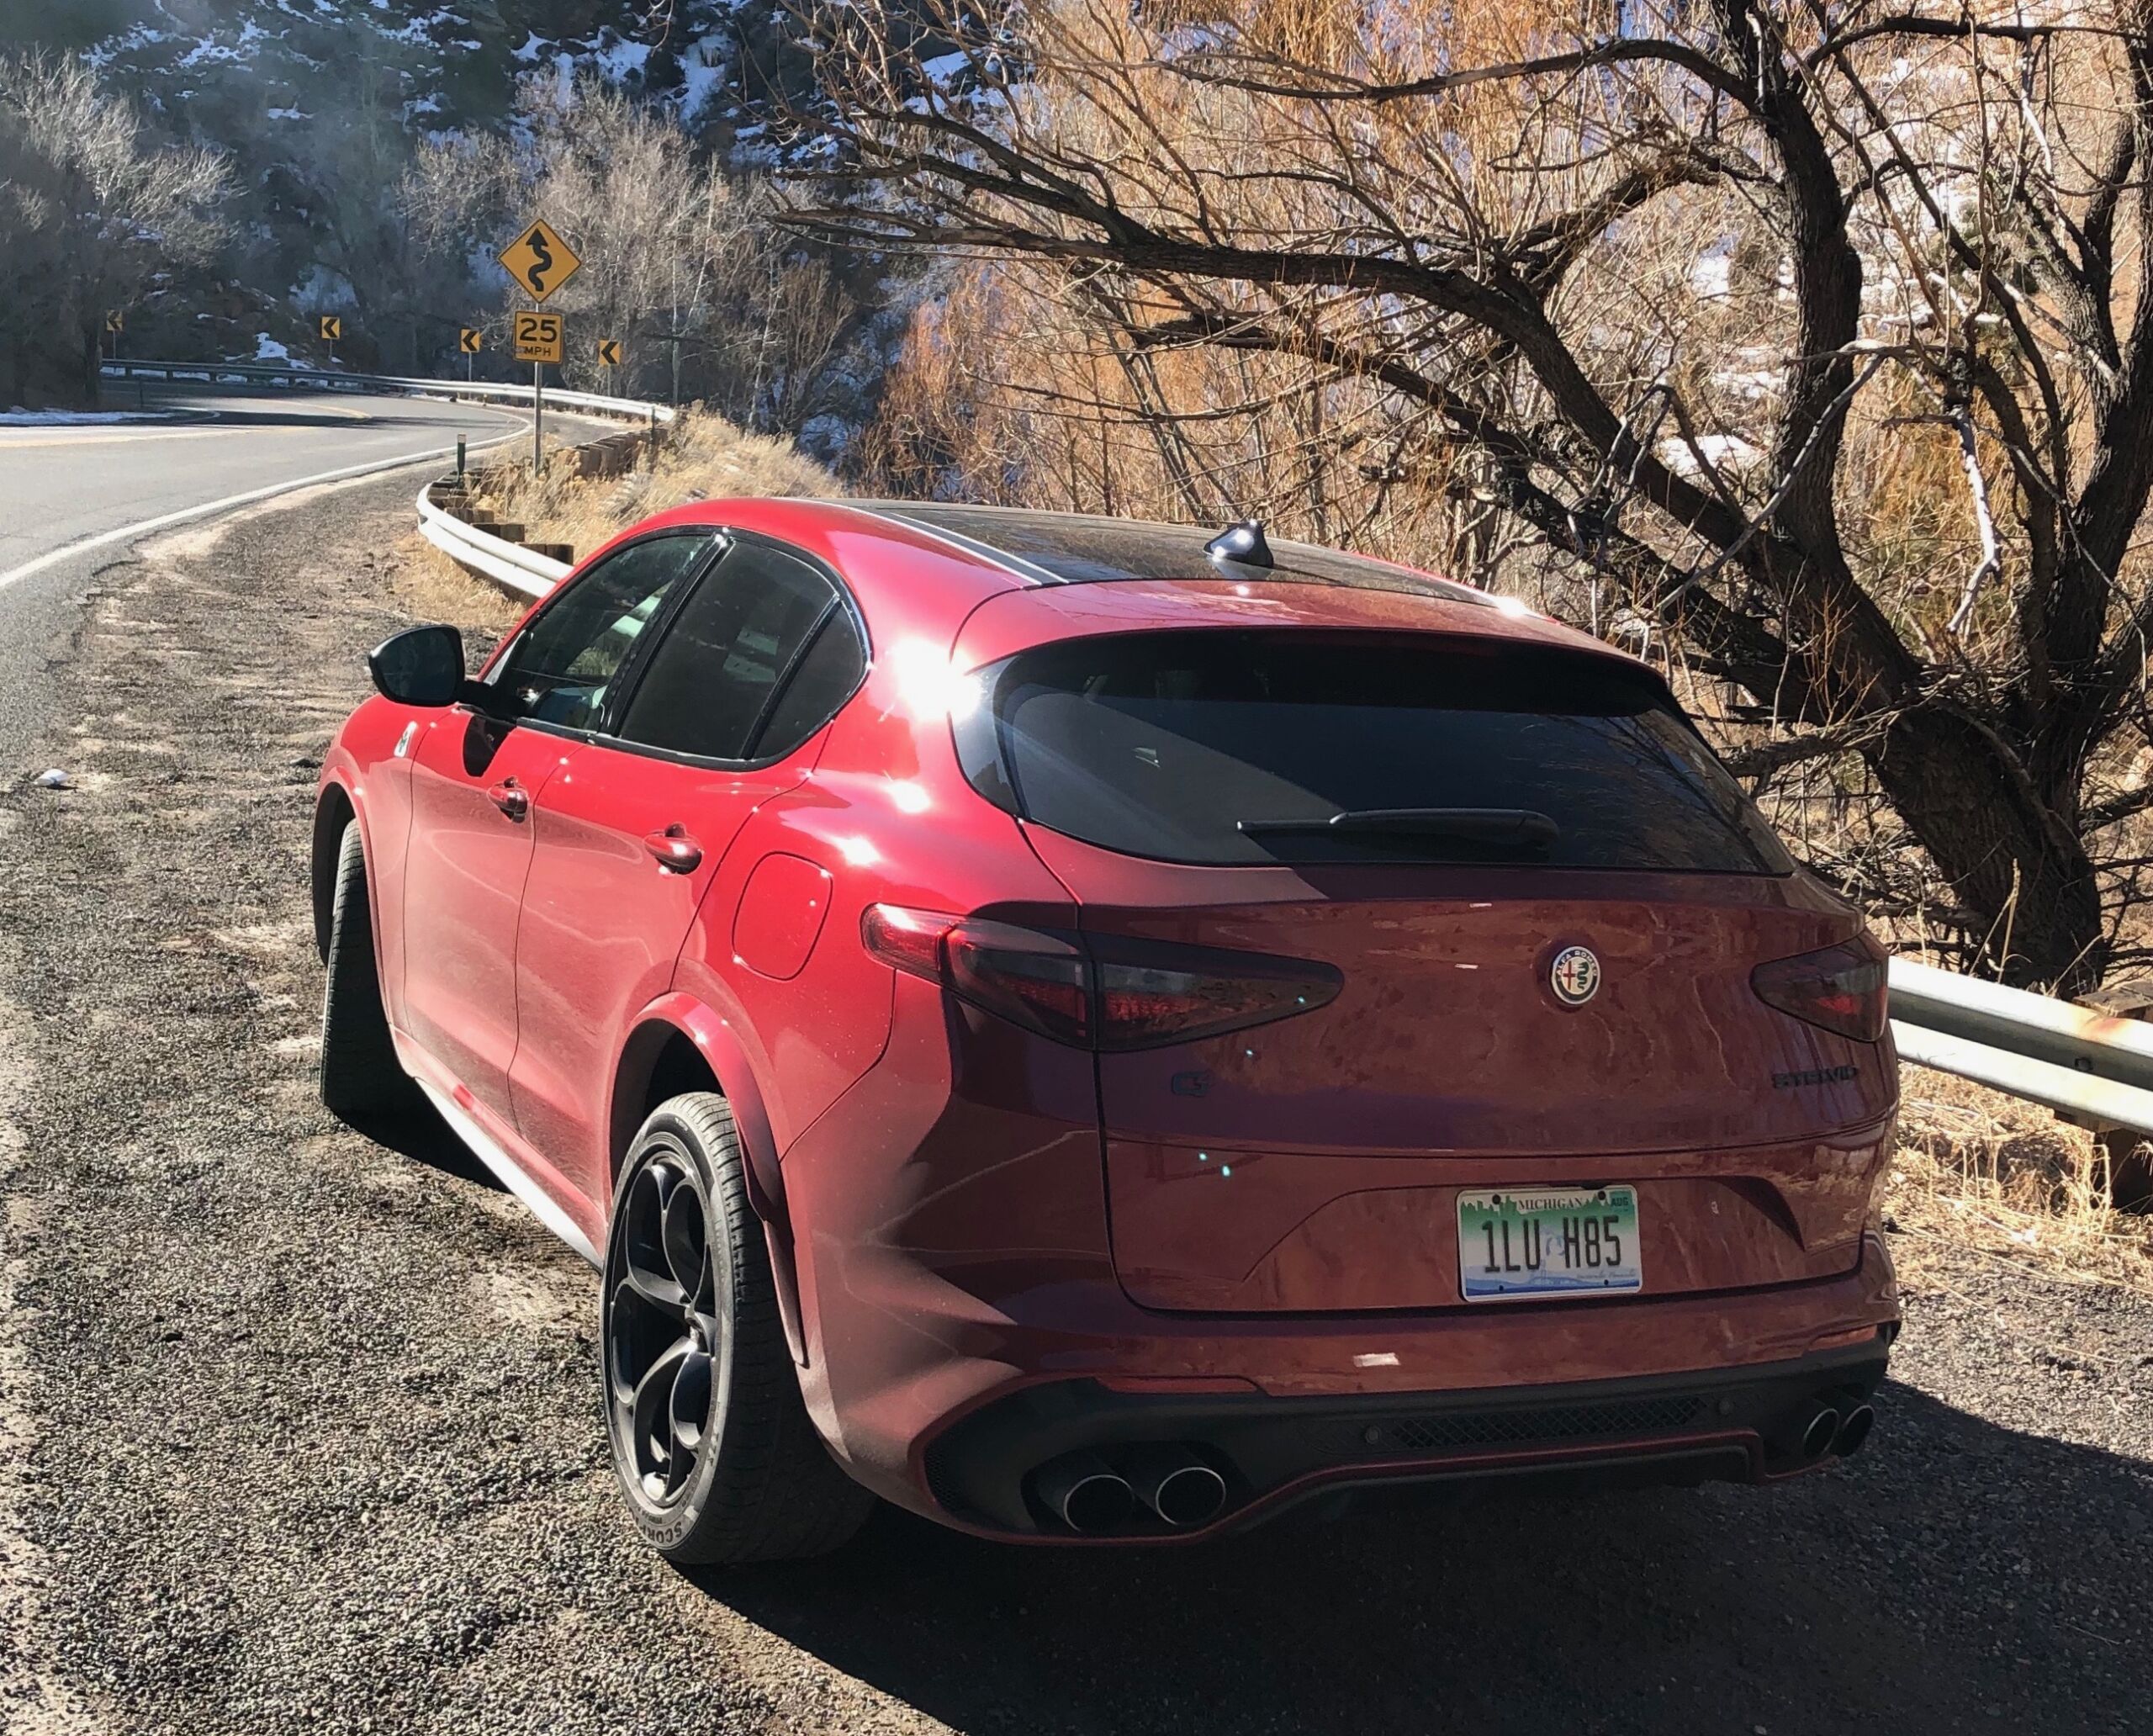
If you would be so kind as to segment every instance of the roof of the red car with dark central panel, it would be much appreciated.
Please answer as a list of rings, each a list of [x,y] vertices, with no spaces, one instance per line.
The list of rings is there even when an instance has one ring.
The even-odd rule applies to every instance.
[[[915,620],[941,612],[952,627],[997,592],[1033,592],[1042,605],[1059,592],[1074,607],[1072,622],[1087,618],[1089,631],[1100,631],[1100,616],[1120,601],[1130,603],[1128,625],[1137,629],[1169,625],[1163,616],[1249,625],[1240,605],[1270,597],[1290,601],[1285,614],[1303,627],[1380,620],[1406,631],[1561,642],[1634,661],[1516,599],[1391,560],[1285,538],[1270,543],[1270,566],[1214,560],[1206,545],[1219,532],[1204,526],[949,502],[736,498],[693,502],[637,530],[685,523],[756,530],[807,547],[861,592],[870,616],[874,594],[889,586],[906,592]],[[883,556],[900,556],[902,564]],[[1079,605],[1081,594],[1087,601]],[[1167,597],[1171,610],[1163,607]]]

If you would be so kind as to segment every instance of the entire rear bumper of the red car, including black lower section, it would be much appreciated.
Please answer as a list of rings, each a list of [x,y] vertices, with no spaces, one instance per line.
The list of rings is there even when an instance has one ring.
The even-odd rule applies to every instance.
[[[844,1327],[814,1333],[803,1372],[840,1460],[915,1512],[1033,1542],[1096,1540],[1040,1503],[1042,1467],[1143,1445],[1210,1465],[1225,1510],[1107,1540],[1206,1536],[1337,1484],[1770,1480],[1819,1458],[1798,1450],[1806,1411],[1867,1400],[1899,1320],[1877,1236],[1834,1279],[1434,1314],[1156,1314],[1098,1282],[982,1307],[904,1258],[846,1277]]]

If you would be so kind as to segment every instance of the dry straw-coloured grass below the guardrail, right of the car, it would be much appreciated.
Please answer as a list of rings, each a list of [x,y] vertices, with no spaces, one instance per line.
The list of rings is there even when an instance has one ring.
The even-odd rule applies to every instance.
[[[1940,1275],[1979,1249],[2052,1277],[2153,1292],[2153,1217],[2110,1208],[2091,1133],[1925,1066],[1903,1068],[1901,1090],[1884,1208],[1908,1277]]]

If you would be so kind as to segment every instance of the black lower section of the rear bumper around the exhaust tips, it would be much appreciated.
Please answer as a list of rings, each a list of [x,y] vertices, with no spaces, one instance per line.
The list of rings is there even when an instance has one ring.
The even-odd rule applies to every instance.
[[[1871,1338],[1759,1368],[1354,1398],[1055,1381],[956,1422],[928,1445],[924,1469],[937,1516],[1029,1542],[1195,1540],[1341,1486],[1765,1482],[1817,1467],[1834,1441],[1858,1450],[1884,1353]],[[1059,1465],[1139,1480],[1137,1467],[1160,1452],[1216,1471],[1214,1518],[1176,1525],[1135,1499],[1124,1521],[1079,1531],[1042,1499]]]

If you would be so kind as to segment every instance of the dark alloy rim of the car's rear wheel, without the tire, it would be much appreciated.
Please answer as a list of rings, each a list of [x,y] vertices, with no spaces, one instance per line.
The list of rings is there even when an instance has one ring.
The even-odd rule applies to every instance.
[[[652,1508],[676,1503],[723,1417],[732,1368],[719,1307],[723,1243],[685,1154],[659,1148],[629,1180],[607,1260],[607,1422],[635,1488]]]

